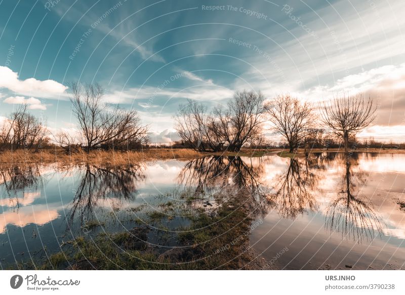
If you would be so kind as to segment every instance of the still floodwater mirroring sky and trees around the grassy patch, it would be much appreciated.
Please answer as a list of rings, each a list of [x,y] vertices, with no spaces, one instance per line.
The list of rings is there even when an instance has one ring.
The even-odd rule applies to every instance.
[[[210,214],[232,188],[259,224],[250,245],[279,269],[404,269],[405,155],[319,153],[310,159],[205,157],[125,167],[3,167],[0,266],[46,257],[77,236],[139,225],[187,226],[179,213],[159,225],[145,216],[184,192]],[[238,194],[240,197],[240,194]],[[259,223],[257,223],[259,221]],[[213,225],[215,226],[215,225]],[[173,235],[151,234],[161,252]]]

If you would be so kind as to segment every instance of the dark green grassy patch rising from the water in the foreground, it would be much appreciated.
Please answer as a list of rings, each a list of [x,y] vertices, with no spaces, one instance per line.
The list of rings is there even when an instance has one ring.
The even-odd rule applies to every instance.
[[[184,196],[187,198],[187,196]],[[78,237],[66,242],[58,253],[46,260],[19,265],[19,269],[69,269],[69,270],[211,270],[211,269],[261,269],[251,263],[257,257],[249,248],[252,218],[237,196],[225,201],[215,213],[198,208],[187,215],[188,226],[156,230],[148,226],[114,234],[101,233],[92,239]],[[171,201],[172,202],[172,201]],[[168,211],[179,210],[176,204],[165,204]],[[173,208],[173,209],[171,209]],[[178,214],[190,213],[185,206]],[[161,222],[165,213],[146,214],[147,224]],[[165,219],[167,220],[167,218]],[[157,232],[157,233],[156,233]],[[164,232],[164,233],[163,233]],[[176,247],[160,248],[148,238],[176,241]],[[153,236],[153,235],[152,235]],[[261,263],[263,260],[259,259]]]

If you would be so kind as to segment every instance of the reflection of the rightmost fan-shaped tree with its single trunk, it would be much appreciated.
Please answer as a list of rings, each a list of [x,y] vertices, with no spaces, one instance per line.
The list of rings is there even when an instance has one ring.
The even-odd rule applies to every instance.
[[[363,237],[372,240],[375,234],[382,234],[380,217],[371,204],[362,201],[357,189],[365,185],[365,176],[353,173],[352,166],[357,165],[357,155],[345,160],[345,174],[342,190],[338,197],[329,205],[326,212],[326,228],[331,232],[341,232],[342,238],[352,238],[358,243]],[[343,156],[343,155],[342,155]],[[342,157],[343,158],[343,157]]]

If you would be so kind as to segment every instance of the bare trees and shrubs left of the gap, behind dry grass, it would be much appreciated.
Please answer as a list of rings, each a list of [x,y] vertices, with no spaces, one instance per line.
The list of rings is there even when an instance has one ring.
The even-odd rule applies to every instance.
[[[82,148],[87,152],[92,149],[136,149],[148,142],[148,126],[141,124],[137,111],[104,103],[104,89],[99,84],[73,82],[69,88],[78,132],[51,134],[44,122],[29,114],[26,104],[21,104],[0,128],[0,149],[37,149],[49,143],[51,138],[69,152]]]

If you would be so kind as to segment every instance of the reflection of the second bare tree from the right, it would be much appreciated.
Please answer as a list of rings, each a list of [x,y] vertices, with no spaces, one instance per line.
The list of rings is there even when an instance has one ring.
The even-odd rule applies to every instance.
[[[317,163],[317,159],[290,159],[286,172],[274,180],[275,193],[270,195],[269,200],[281,217],[295,218],[308,210],[317,209],[311,193],[319,180],[312,171]]]

